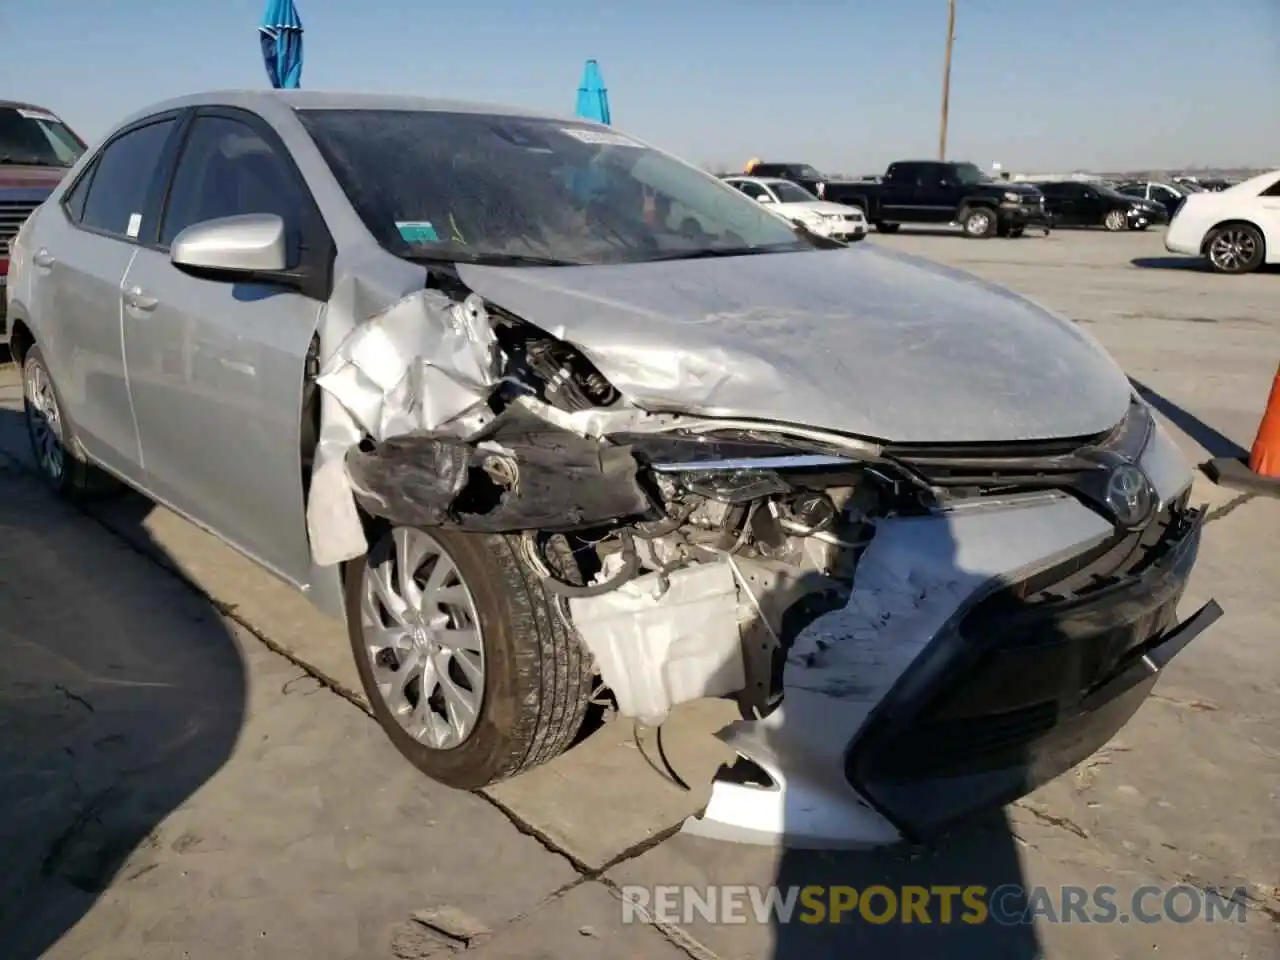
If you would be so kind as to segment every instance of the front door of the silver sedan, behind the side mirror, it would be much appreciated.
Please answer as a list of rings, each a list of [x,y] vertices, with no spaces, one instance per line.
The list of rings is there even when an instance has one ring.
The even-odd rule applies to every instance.
[[[202,109],[182,145],[159,229],[125,279],[124,353],[150,488],[301,585],[311,570],[302,383],[323,297],[197,278],[169,260],[184,228],[238,214],[279,215],[291,264],[332,251],[270,125],[239,110]]]

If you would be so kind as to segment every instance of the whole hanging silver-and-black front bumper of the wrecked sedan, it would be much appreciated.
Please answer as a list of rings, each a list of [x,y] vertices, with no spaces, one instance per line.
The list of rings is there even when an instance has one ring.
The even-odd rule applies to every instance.
[[[846,605],[791,644],[781,707],[721,732],[742,759],[685,831],[922,840],[1097,750],[1221,616],[1176,623],[1203,518],[1165,431],[1139,462],[1160,509],[1140,532],[1059,494],[877,524]]]

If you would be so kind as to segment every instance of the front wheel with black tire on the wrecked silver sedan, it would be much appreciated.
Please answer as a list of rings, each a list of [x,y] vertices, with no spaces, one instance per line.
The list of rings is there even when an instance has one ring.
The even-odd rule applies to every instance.
[[[406,557],[419,596],[425,594],[420,604],[436,617],[428,625],[416,616],[422,607],[411,608],[402,618],[416,625],[412,632],[399,627],[387,602],[376,599],[375,585],[384,579],[393,594],[404,593],[398,563]],[[428,591],[434,581],[422,573],[443,573],[442,561],[452,572],[440,580],[433,603]],[[572,744],[591,699],[590,658],[561,620],[552,595],[520,559],[516,538],[383,527],[369,554],[347,564],[343,579],[347,634],[374,716],[396,749],[428,777],[477,790],[547,763]],[[375,635],[366,628],[374,621],[390,628]],[[388,645],[372,652],[378,643]],[[466,655],[447,654],[448,649]],[[460,691],[452,713],[445,685],[436,685],[435,695],[422,704],[420,669],[396,682],[404,659],[415,655],[444,669],[449,686]],[[449,726],[442,722],[445,717],[466,716],[458,696],[472,701],[474,722],[451,726],[449,737],[439,737]]]

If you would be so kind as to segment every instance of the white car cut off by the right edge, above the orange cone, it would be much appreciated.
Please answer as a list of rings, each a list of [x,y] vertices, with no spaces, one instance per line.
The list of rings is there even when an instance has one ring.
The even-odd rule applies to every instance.
[[[1280,170],[1219,193],[1192,193],[1165,232],[1174,253],[1203,256],[1222,274],[1280,264]]]

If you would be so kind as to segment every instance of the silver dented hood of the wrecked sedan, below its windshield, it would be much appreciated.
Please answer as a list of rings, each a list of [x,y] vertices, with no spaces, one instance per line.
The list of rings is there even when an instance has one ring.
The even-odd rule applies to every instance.
[[[1102,433],[1129,402],[1124,372],[1070,321],[874,244],[458,271],[649,410],[980,443]]]

